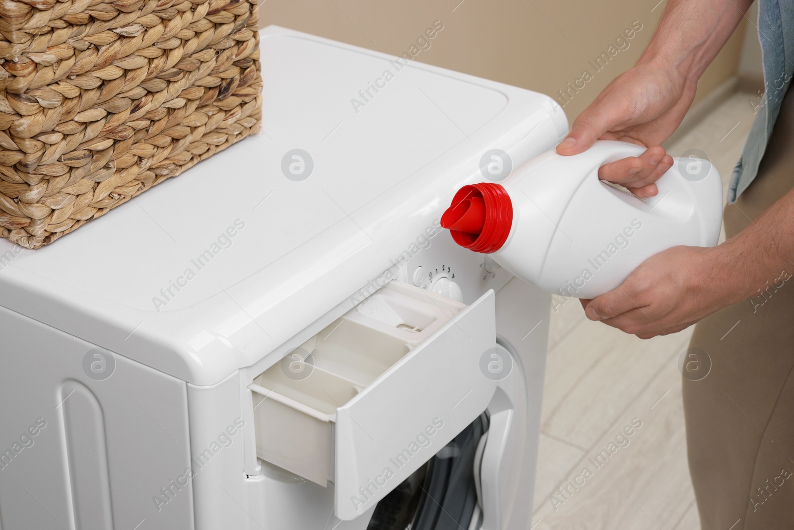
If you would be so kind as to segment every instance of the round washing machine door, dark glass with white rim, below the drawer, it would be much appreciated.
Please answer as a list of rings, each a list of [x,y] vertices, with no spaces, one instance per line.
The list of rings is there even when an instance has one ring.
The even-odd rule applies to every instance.
[[[498,381],[488,408],[380,501],[368,530],[528,528],[532,490],[522,478],[534,476],[534,452],[527,449],[529,394],[515,348],[498,342],[513,369]]]

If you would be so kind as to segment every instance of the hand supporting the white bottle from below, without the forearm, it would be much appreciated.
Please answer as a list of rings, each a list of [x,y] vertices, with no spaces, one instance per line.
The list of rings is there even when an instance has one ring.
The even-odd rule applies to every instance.
[[[719,263],[715,249],[674,246],[649,257],[619,288],[581,300],[584,314],[640,339],[676,333],[738,301]]]

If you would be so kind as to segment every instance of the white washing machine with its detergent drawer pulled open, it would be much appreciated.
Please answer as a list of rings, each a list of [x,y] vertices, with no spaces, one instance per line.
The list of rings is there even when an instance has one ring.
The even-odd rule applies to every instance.
[[[0,241],[0,529],[530,527],[549,295],[453,244],[552,99],[275,26],[264,122]]]

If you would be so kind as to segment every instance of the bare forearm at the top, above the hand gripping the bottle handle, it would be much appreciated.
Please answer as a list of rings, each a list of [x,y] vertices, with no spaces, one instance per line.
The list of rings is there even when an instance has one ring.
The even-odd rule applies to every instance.
[[[696,83],[742,21],[752,0],[669,0],[638,63],[674,68]]]

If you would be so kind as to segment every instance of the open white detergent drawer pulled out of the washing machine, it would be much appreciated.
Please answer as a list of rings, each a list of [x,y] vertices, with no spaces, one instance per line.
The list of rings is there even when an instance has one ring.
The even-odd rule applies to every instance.
[[[391,281],[256,377],[256,454],[333,482],[354,519],[485,410],[495,336],[492,291],[466,306]]]

